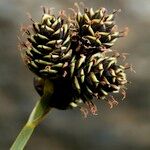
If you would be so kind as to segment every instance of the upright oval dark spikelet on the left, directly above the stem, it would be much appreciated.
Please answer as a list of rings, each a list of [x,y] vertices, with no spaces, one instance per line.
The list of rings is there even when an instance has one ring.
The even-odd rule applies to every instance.
[[[72,55],[68,24],[61,16],[44,12],[41,21],[33,22],[31,28],[27,32],[27,66],[40,77],[63,76]]]

